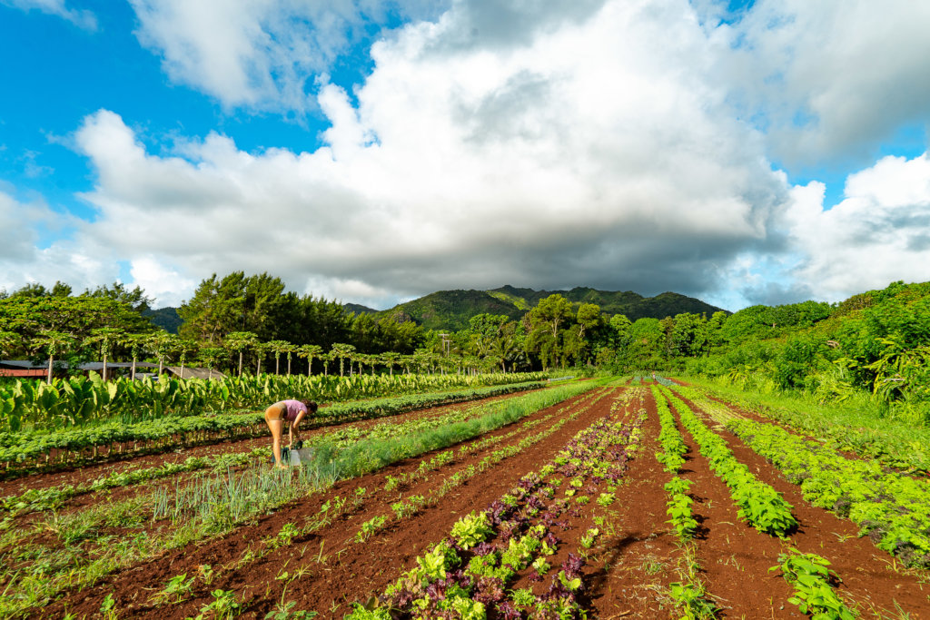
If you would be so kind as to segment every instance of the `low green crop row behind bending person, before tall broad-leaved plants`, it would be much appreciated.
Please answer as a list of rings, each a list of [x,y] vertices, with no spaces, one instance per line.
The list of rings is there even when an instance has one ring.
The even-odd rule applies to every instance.
[[[515,391],[539,389],[528,382],[489,388],[434,392],[346,402],[321,408],[308,420],[309,428],[348,421],[393,416],[440,404],[467,402]],[[264,414],[168,416],[137,424],[108,423],[56,433],[0,434],[0,467],[5,475],[112,460],[127,454],[157,454],[179,447],[248,439],[267,434]]]

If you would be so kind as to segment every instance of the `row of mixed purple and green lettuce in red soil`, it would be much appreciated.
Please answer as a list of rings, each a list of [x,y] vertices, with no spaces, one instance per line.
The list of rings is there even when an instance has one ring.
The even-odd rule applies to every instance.
[[[580,510],[595,495],[601,506],[613,503],[643,421],[642,416],[632,423],[602,418],[582,430],[551,463],[527,474],[484,511],[457,521],[447,537],[417,558],[415,568],[346,617],[586,617],[580,600],[583,551],[594,545],[600,527],[585,530],[579,552],[569,551],[567,557],[557,534],[581,518]],[[565,561],[556,563],[556,554]],[[514,587],[527,581],[548,581],[548,587]]]

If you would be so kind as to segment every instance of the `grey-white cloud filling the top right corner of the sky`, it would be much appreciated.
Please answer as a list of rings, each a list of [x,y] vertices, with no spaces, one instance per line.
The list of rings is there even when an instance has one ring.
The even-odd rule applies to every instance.
[[[762,112],[789,165],[870,162],[901,125],[930,123],[930,3],[758,0],[723,35],[722,79]]]

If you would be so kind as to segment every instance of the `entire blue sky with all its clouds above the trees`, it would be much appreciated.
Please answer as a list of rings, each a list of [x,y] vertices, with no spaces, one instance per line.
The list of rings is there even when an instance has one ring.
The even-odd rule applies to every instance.
[[[924,281],[928,27],[904,0],[0,0],[0,287],[737,310]]]

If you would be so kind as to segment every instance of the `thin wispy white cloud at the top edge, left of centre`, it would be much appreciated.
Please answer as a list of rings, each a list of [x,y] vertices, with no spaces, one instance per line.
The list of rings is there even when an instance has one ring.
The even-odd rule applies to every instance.
[[[180,84],[227,108],[305,111],[306,92],[365,27],[392,9],[427,15],[441,6],[374,0],[130,0],[140,42]]]

